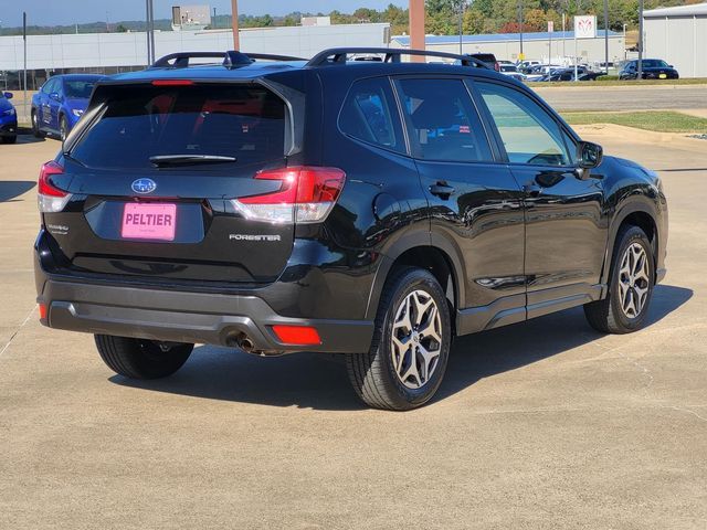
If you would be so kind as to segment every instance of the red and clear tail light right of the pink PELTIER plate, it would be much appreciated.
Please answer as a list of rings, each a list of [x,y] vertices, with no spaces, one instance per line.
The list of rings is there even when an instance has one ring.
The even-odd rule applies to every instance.
[[[272,223],[319,223],[336,204],[346,174],[336,168],[295,167],[255,174],[258,180],[278,180],[279,188],[260,195],[233,199],[245,218]]]

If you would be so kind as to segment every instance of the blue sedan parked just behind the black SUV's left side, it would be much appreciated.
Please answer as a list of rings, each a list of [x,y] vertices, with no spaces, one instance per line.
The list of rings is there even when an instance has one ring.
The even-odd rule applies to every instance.
[[[32,97],[34,136],[53,135],[64,140],[86,110],[94,85],[104,77],[70,74],[49,78]]]

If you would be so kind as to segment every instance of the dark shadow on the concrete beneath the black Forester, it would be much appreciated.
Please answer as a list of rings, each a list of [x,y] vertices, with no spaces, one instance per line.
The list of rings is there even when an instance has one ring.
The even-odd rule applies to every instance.
[[[690,289],[657,286],[647,326],[675,311]],[[444,400],[476,381],[531,364],[602,337],[589,327],[581,308],[457,339],[445,379],[434,398]],[[114,375],[134,389],[268,406],[354,411],[366,406],[350,389],[342,356],[295,353],[257,358],[236,349],[202,346],[170,378],[135,381]]]

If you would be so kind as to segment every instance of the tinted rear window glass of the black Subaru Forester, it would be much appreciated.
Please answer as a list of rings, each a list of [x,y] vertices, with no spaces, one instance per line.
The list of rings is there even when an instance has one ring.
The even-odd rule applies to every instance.
[[[88,167],[151,168],[155,156],[233,157],[238,165],[284,157],[285,104],[264,87],[106,89],[115,97],[71,152]]]

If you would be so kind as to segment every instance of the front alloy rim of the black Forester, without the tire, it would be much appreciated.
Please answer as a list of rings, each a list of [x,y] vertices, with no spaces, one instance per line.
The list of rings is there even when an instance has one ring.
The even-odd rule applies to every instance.
[[[619,299],[621,310],[629,318],[641,315],[648,299],[648,271],[645,248],[639,243],[632,243],[623,253],[619,267]]]

